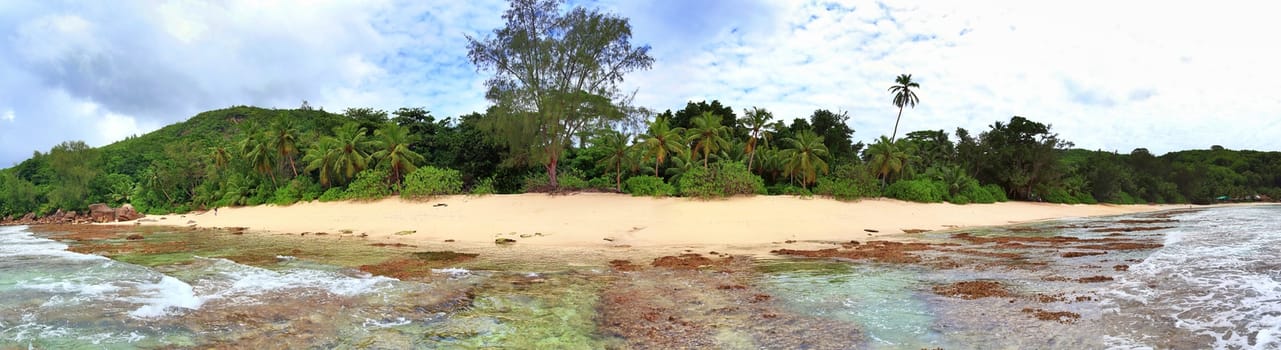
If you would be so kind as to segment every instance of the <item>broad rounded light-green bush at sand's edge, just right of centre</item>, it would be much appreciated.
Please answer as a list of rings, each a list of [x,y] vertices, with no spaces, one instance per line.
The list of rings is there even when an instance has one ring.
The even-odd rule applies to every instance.
[[[680,195],[687,197],[766,194],[765,181],[738,162],[721,162],[706,169],[696,167],[680,177],[679,185]]]

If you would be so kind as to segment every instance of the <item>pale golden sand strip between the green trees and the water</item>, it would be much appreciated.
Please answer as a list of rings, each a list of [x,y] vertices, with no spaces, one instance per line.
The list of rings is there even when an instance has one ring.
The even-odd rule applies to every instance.
[[[1186,205],[1063,205],[1047,203],[921,204],[889,199],[853,203],[821,197],[753,196],[728,200],[633,197],[617,194],[397,197],[371,203],[304,203],[220,208],[218,213],[149,215],[145,226],[325,236],[404,244],[665,247],[739,246],[780,241],[848,241],[902,233],[999,226],[1056,218],[1117,215]],[[135,224],[135,223],[122,223]],[[412,233],[410,233],[412,232]]]

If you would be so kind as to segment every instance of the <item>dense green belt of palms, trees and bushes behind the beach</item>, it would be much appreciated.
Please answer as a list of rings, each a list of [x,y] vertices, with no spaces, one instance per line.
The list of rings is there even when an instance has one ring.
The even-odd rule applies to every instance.
[[[849,115],[825,109],[790,122],[756,106],[737,114],[720,101],[648,113],[615,88],[652,62],[647,46],[628,44],[626,19],[560,14],[557,5],[514,1],[507,27],[469,37],[473,62],[494,72],[487,95],[494,104],[484,113],[437,119],[424,108],[337,114],[306,104],[210,110],[97,149],[70,141],[35,153],[0,171],[0,217],[92,203],[169,213],[562,190],[956,204],[1281,199],[1281,153],[1076,150],[1050,126],[1022,117],[977,135],[957,128],[954,138],[942,129],[898,138],[895,121],[890,137],[863,145],[853,142]],[[518,62],[524,67],[511,67]],[[571,65],[578,74],[520,73]],[[907,74],[890,86],[899,115],[918,103],[917,88]]]

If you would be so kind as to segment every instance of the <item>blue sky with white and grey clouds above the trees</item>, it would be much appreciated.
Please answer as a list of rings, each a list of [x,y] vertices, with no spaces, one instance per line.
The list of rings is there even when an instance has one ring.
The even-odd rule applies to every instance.
[[[848,112],[854,138],[1022,115],[1077,147],[1281,150],[1281,24],[1259,1],[578,0],[630,18],[656,110]],[[231,105],[483,110],[482,1],[0,1],[0,167]],[[902,133],[902,132],[901,132]]]

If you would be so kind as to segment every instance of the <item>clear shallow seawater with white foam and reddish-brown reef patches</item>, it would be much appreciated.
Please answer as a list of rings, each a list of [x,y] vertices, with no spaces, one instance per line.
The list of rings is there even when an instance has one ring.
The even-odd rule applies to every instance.
[[[427,249],[350,240],[0,227],[0,349],[1278,349],[1277,218],[1281,206],[1068,219],[915,235],[939,244],[917,263],[710,256],[635,272],[414,260]],[[1162,246],[1089,247],[1114,241]],[[972,281],[1006,294],[938,290]]]

